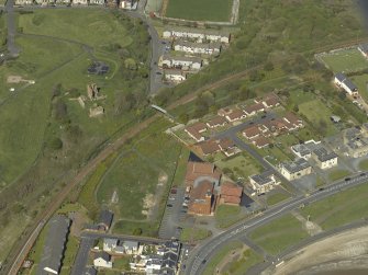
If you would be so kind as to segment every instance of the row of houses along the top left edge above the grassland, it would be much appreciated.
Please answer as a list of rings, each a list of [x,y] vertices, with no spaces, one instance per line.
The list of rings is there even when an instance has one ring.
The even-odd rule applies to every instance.
[[[135,10],[136,0],[15,0],[15,5],[30,4],[80,4],[80,5],[107,5],[111,8],[121,8],[124,10]]]

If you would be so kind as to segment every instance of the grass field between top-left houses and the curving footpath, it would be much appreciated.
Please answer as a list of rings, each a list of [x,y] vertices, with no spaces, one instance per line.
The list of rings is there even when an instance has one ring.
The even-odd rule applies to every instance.
[[[132,43],[127,30],[103,9],[37,10],[19,18],[19,27],[23,33],[57,36],[85,43],[98,48],[118,44],[125,47]],[[109,35],[107,35],[109,34]],[[101,39],[103,37],[103,39]]]

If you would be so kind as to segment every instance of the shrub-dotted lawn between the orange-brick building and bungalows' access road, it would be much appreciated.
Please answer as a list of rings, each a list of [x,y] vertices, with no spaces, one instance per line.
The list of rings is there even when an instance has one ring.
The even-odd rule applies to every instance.
[[[231,158],[224,158],[215,164],[233,180],[247,179],[249,175],[260,173],[261,165],[247,152],[238,153]]]

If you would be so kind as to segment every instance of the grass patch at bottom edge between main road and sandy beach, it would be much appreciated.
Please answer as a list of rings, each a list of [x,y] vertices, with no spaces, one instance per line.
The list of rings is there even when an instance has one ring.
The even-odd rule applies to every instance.
[[[246,274],[247,270],[263,261],[263,257],[254,252],[250,249],[247,249],[246,251],[243,252],[241,257],[237,257],[234,261],[231,261],[227,263],[223,268],[222,273],[223,274],[228,274],[228,275],[243,275]]]

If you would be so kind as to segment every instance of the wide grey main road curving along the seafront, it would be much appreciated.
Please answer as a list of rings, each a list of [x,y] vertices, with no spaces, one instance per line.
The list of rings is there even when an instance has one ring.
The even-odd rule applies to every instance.
[[[342,190],[366,183],[367,180],[368,180],[368,174],[364,173],[364,174],[352,176],[349,181],[345,181],[345,180],[337,181],[336,183],[325,187],[322,191],[313,192],[308,197],[299,196],[299,197],[292,198],[289,202],[286,202],[283,204],[276,206],[275,208],[264,211],[261,215],[253,219],[249,219],[247,221],[241,222],[232,227],[225,232],[207,240],[201,245],[196,248],[192,251],[187,262],[187,270],[185,274],[188,274],[188,275],[201,274],[203,272],[203,268],[205,267],[205,263],[211,259],[211,256],[213,256],[218,248],[225,245],[227,242],[232,240],[238,239],[247,231],[253,230],[257,227],[264,226],[268,224],[269,221],[271,221],[272,219],[281,217],[285,214],[291,211],[292,209],[300,207],[301,205],[311,204],[313,202],[316,202],[327,196],[331,196],[333,194],[336,194]]]

